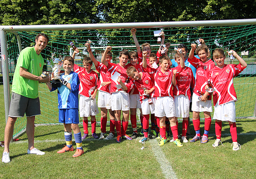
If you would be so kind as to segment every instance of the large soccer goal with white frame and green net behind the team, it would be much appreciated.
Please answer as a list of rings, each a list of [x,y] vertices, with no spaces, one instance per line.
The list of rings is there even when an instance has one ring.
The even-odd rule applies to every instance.
[[[44,71],[51,71],[47,60],[64,58],[72,54],[69,42],[72,41],[80,50],[75,63],[82,65],[81,59],[87,56],[84,44],[92,41],[92,51],[100,61],[106,46],[112,46],[112,62],[118,62],[120,50],[135,50],[130,30],[136,28],[139,44],[148,42],[152,52],[159,49],[154,31],[164,28],[165,43],[170,42],[168,54],[170,59],[174,55],[174,47],[185,44],[190,51],[190,44],[203,38],[206,45],[213,52],[215,48],[224,51],[235,50],[248,64],[244,72],[234,79],[234,86],[238,95],[236,102],[237,117],[254,117],[256,115],[256,19],[245,20],[212,20],[188,22],[143,22],[116,24],[68,24],[68,25],[34,25],[34,26],[1,26],[2,73],[4,79],[4,98],[6,119],[9,111],[10,88],[12,76],[18,55],[23,48],[34,46],[35,36],[43,32],[49,36],[49,43],[41,53],[45,64]],[[226,54],[227,64],[237,64],[238,60],[230,60]],[[95,69],[95,67],[93,68]],[[58,99],[56,92],[50,92],[45,84],[40,84],[41,114],[36,116],[35,123],[53,125],[58,123]],[[191,118],[192,116],[190,116]],[[82,121],[82,119],[80,119]],[[99,125],[100,113],[96,116]],[[109,120],[108,120],[109,121]],[[26,127],[26,118],[18,118],[14,127],[14,137],[17,137]]]

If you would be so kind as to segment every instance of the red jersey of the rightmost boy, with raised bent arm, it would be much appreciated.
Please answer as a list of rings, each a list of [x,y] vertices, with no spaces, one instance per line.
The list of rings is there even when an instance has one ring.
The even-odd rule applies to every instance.
[[[240,74],[245,68],[241,64],[225,64],[223,68],[215,66],[210,71],[211,81],[214,89],[213,103],[221,105],[230,101],[237,101],[233,78]]]

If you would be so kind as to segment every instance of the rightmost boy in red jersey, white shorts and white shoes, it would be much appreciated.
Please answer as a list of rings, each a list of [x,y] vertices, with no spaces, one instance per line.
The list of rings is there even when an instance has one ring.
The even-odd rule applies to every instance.
[[[233,56],[239,61],[239,64],[224,64],[226,56],[224,51],[220,48],[215,49],[213,52],[213,59],[217,65],[210,70],[210,76],[212,86],[215,90],[213,92],[213,119],[216,119],[215,132],[217,139],[212,146],[217,147],[219,143],[221,143],[222,121],[228,121],[233,141],[233,150],[236,151],[240,149],[240,144],[237,143],[235,107],[237,98],[233,78],[240,74],[246,68],[247,64],[234,50],[230,50],[228,53],[230,52],[232,52]],[[206,86],[206,88],[208,88],[208,86]]]

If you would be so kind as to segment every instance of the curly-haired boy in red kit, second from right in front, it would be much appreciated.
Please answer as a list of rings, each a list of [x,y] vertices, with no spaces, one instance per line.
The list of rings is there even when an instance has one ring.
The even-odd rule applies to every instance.
[[[188,62],[196,68],[196,79],[195,87],[192,96],[192,111],[193,111],[193,125],[196,131],[196,135],[190,142],[195,142],[201,139],[200,143],[208,142],[208,133],[211,127],[211,112],[212,112],[212,96],[209,95],[208,91],[205,91],[205,86],[210,77],[209,72],[214,68],[214,62],[207,58],[208,48],[204,45],[196,46],[191,44],[192,49],[188,56]],[[194,56],[194,51],[200,59]],[[200,95],[199,92],[204,93]],[[204,135],[201,138],[200,134],[200,112],[204,112]]]

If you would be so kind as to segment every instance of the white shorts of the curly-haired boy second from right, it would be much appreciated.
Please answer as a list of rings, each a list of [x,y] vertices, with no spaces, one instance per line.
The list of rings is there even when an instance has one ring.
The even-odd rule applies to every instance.
[[[212,101],[206,100],[206,102],[203,102],[198,97],[195,93],[193,94],[191,110],[195,112],[212,112]]]

